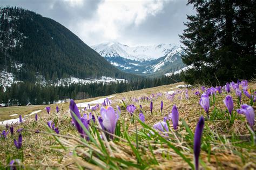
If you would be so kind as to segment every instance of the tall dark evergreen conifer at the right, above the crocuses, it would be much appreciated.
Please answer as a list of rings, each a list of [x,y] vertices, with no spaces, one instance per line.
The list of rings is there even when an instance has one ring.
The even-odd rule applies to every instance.
[[[181,58],[193,68],[187,83],[224,84],[255,76],[256,3],[252,1],[189,0],[196,15],[187,16]]]

